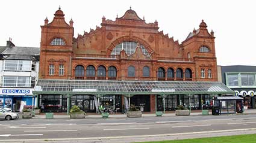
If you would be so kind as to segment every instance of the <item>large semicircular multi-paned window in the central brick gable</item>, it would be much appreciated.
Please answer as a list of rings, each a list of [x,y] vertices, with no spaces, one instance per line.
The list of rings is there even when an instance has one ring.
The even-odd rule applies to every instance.
[[[137,42],[131,42],[131,41],[122,42],[116,45],[116,47],[114,47],[113,51],[111,52],[111,55],[119,55],[120,51],[122,50],[125,50],[126,54],[131,55],[136,51],[136,48],[137,48]],[[143,54],[145,54],[146,56],[149,56],[148,51],[142,44],[140,44],[140,48],[142,48]]]

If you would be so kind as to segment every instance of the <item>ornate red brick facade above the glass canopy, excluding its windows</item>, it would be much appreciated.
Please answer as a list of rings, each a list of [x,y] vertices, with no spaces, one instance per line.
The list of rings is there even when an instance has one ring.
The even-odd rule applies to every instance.
[[[75,79],[75,68],[84,67],[83,79],[89,80],[178,80],[178,81],[217,81],[217,66],[214,46],[214,33],[207,31],[207,25],[202,20],[199,29],[191,32],[181,44],[173,41],[163,31],[158,31],[158,22],[146,23],[136,12],[128,10],[115,21],[102,17],[101,27],[84,32],[73,37],[73,21],[67,24],[63,11],[54,14],[54,19],[42,28],[40,51],[40,79]],[[55,38],[61,38],[64,45],[52,44]],[[124,50],[117,55],[111,55],[113,49],[120,43],[131,41],[143,45],[148,55],[143,54],[142,48],[136,48],[135,53],[126,54]],[[200,51],[206,47],[207,52]],[[49,75],[49,65],[54,65],[54,74]],[[64,75],[59,75],[59,65],[64,65]],[[86,77],[87,66],[95,67],[95,77]],[[98,77],[99,66],[104,66],[106,75]],[[108,68],[116,67],[116,78],[108,78]],[[128,67],[134,66],[135,77],[128,77]],[[143,67],[149,67],[149,77],[143,77]],[[164,69],[164,76],[158,78],[158,69]],[[174,71],[173,78],[167,76],[167,69]],[[176,78],[176,69],[182,69],[183,78]],[[186,69],[192,72],[192,78],[186,78]],[[201,77],[201,69],[205,70],[205,78]],[[211,69],[211,76],[208,76]],[[208,78],[210,77],[210,78]]]

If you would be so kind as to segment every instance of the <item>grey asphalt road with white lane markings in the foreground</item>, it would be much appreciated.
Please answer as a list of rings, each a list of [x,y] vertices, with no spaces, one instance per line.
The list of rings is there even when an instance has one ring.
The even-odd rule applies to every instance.
[[[256,115],[37,118],[1,120],[0,127],[0,142],[134,142],[256,133]]]

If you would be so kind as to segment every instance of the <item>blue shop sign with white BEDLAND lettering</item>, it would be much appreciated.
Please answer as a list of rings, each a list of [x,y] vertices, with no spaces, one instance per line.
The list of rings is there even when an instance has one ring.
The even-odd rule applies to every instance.
[[[1,95],[33,95],[32,89],[0,89]]]

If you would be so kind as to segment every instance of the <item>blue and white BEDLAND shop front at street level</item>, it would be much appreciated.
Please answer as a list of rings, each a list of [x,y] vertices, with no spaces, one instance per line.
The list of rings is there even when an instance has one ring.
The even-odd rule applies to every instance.
[[[33,89],[0,89],[0,108],[10,108],[13,111],[20,111],[21,105],[35,105]]]

